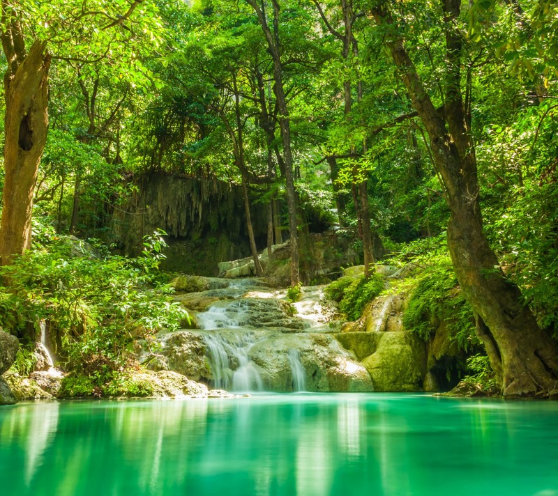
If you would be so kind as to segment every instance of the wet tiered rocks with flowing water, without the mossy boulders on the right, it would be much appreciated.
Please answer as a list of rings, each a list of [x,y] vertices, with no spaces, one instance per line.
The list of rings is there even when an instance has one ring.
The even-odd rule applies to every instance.
[[[308,288],[291,307],[285,290],[257,279],[183,295],[199,329],[160,336],[158,356],[146,362],[232,392],[372,391],[363,365],[324,332],[331,310],[321,296],[321,288]]]

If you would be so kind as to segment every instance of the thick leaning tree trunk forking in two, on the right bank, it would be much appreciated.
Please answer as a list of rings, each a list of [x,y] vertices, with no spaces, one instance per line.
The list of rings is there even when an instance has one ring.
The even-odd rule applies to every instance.
[[[558,394],[558,355],[550,336],[538,327],[520,290],[499,268],[483,233],[474,146],[460,91],[459,0],[445,0],[446,74],[444,115],[432,104],[402,39],[388,31],[386,45],[413,107],[430,137],[432,155],[450,208],[448,248],[463,295],[476,313],[483,341],[504,396]],[[393,24],[389,6],[374,11],[377,24]]]

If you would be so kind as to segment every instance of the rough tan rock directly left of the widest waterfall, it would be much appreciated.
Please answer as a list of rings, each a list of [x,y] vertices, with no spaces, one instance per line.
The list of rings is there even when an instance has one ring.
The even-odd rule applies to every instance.
[[[206,345],[200,334],[176,331],[160,340],[163,355],[147,365],[151,370],[172,370],[192,380],[211,378],[211,369],[205,356]]]

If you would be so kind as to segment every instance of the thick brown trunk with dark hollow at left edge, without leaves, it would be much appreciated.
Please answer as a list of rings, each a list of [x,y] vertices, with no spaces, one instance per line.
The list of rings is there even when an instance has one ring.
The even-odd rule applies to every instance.
[[[0,235],[2,265],[8,265],[12,256],[31,246],[33,192],[48,127],[50,56],[46,44],[35,42],[25,54],[23,47],[10,46],[12,40],[8,32],[3,33],[4,53],[11,63],[4,77],[6,177]]]

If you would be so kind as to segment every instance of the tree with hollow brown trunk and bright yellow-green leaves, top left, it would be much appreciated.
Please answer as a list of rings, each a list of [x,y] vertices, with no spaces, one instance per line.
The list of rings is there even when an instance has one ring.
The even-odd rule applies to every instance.
[[[33,192],[47,139],[48,76],[53,58],[82,63],[103,57],[116,61],[113,45],[130,47],[123,43],[133,40],[136,31],[141,36],[144,29],[152,34],[156,10],[143,0],[117,0],[110,5],[100,0],[78,5],[62,1],[22,5],[2,0],[1,9],[0,37],[8,68],[4,75],[6,178],[0,261],[8,265],[14,255],[31,245]],[[129,72],[142,71],[139,61],[126,59],[120,62],[122,69],[128,65]]]

